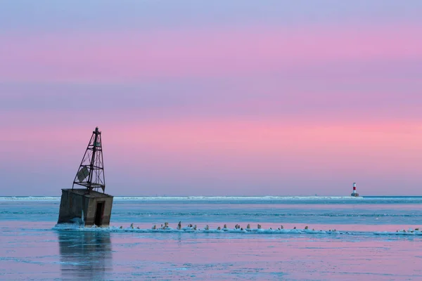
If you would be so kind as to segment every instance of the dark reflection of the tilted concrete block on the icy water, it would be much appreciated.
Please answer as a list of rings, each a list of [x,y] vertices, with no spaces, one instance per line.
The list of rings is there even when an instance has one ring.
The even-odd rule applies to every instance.
[[[58,243],[65,279],[98,280],[113,270],[110,233],[58,232]]]

